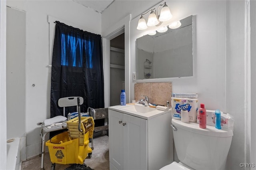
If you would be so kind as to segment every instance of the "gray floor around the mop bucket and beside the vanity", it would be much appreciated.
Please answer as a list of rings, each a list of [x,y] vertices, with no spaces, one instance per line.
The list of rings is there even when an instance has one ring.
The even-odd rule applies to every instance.
[[[109,152],[108,152],[108,136],[96,136],[93,140],[94,150],[92,150],[92,158],[85,159],[84,163],[94,170],[109,170]],[[89,145],[91,146],[91,144]],[[50,161],[49,153],[45,154],[44,170],[51,169],[52,162]],[[70,164],[56,164],[55,170],[64,170]],[[40,170],[41,157],[36,156],[33,159],[22,162],[22,170]]]

